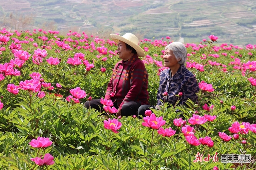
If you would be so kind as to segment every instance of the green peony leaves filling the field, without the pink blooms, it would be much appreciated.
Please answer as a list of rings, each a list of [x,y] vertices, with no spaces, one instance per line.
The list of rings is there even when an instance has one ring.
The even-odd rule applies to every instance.
[[[185,16],[185,15],[183,15]],[[105,90],[112,75],[112,69],[118,59],[115,56],[102,55],[96,50],[97,47],[104,45],[115,52],[116,46],[111,45],[110,41],[99,38],[85,38],[86,35],[79,36],[60,36],[51,33],[42,32],[22,33],[17,36],[15,33],[12,38],[26,40],[28,37],[34,41],[28,44],[22,44],[24,51],[34,54],[37,48],[43,48],[47,51],[46,58],[50,56],[61,58],[58,65],[49,65],[46,58],[40,65],[32,62],[32,56],[22,67],[15,67],[20,71],[20,76],[5,75],[0,81],[0,94],[3,108],[0,111],[0,169],[213,169],[217,166],[219,169],[255,169],[255,140],[256,134],[249,131],[248,134],[240,134],[238,140],[231,139],[224,142],[218,132],[225,132],[232,135],[228,128],[235,121],[239,123],[255,123],[256,110],[256,92],[248,78],[253,77],[254,71],[245,69],[234,69],[230,62],[234,59],[230,56],[239,58],[242,64],[249,60],[254,61],[256,51],[254,49],[235,49],[225,50],[219,48],[214,51],[213,42],[208,41],[206,47],[193,49],[187,47],[188,62],[196,62],[204,66],[204,71],[196,68],[189,68],[196,75],[198,82],[205,81],[212,84],[215,89],[213,92],[200,90],[198,92],[198,103],[191,100],[185,105],[169,105],[164,103],[161,109],[152,109],[157,117],[162,116],[166,121],[163,128],[172,128],[176,133],[171,137],[163,137],[157,133],[157,130],[147,128],[142,125],[143,119],[133,117],[123,117],[119,121],[122,127],[119,133],[113,133],[111,130],[104,129],[103,121],[114,115],[102,115],[94,109],[84,108],[84,103],[88,97],[100,99],[104,97]],[[38,37],[47,36],[44,41]],[[72,50],[63,50],[55,43],[56,37],[59,41],[64,41]],[[11,38],[10,38],[11,39]],[[67,40],[69,39],[69,41]],[[71,39],[71,40],[70,40]],[[86,40],[86,41],[83,41]],[[76,41],[78,43],[76,43]],[[152,40],[153,42],[154,40]],[[13,53],[8,48],[13,40],[10,40],[1,51],[1,64],[9,63],[14,58]],[[160,65],[155,64],[162,61],[161,55],[166,41],[160,41],[152,45],[143,41],[141,47],[148,47],[147,57],[141,58],[147,61],[148,92],[150,103],[156,105],[156,93],[159,85]],[[38,47],[34,47],[37,43]],[[88,43],[88,45],[86,45]],[[93,49],[93,43],[95,50]],[[209,43],[209,44],[208,44]],[[76,46],[76,47],[74,47]],[[78,48],[79,47],[79,48]],[[86,47],[89,47],[88,49]],[[227,47],[227,46],[226,46]],[[239,54],[234,52],[238,51]],[[75,53],[85,54],[85,60],[94,63],[94,68],[86,70],[84,64],[73,66],[67,63],[68,58],[73,57]],[[248,53],[251,52],[252,55]],[[222,55],[227,53],[227,56]],[[207,59],[202,57],[207,56]],[[218,54],[215,58],[209,54]],[[240,56],[241,54],[241,56]],[[103,62],[101,59],[107,57]],[[150,59],[149,59],[150,58]],[[221,63],[222,65],[210,64],[210,61]],[[226,67],[224,67],[224,65]],[[100,69],[104,67],[103,73]],[[227,71],[224,70],[227,69]],[[54,87],[49,90],[42,88],[45,97],[39,98],[37,92],[20,89],[17,95],[6,90],[8,84],[18,85],[19,82],[31,79],[30,74],[38,72],[45,82],[51,83]],[[59,83],[62,87],[56,88]],[[66,97],[70,94],[70,89],[81,87],[86,91],[87,97],[80,99],[80,103],[68,102]],[[58,96],[61,95],[61,96]],[[220,101],[223,103],[220,103]],[[213,109],[206,111],[202,108],[204,104],[214,105]],[[231,110],[231,106],[236,106]],[[178,109],[178,110],[177,110]],[[215,115],[217,118],[211,122],[207,121],[201,125],[194,125],[195,136],[197,138],[209,136],[214,141],[212,148],[206,145],[191,146],[181,132],[182,127],[176,127],[173,124],[175,118],[188,120],[193,114],[203,116]],[[188,124],[188,122],[187,122]],[[48,137],[53,145],[39,150],[29,145],[32,139]],[[241,142],[246,140],[246,144]],[[196,162],[195,156],[203,154],[203,158],[214,156],[218,153],[218,162],[213,159],[209,161]],[[36,156],[42,156],[45,153],[51,153],[54,156],[55,164],[51,166],[38,166],[30,160]],[[252,162],[250,164],[231,164],[221,163],[221,154],[251,154]]]

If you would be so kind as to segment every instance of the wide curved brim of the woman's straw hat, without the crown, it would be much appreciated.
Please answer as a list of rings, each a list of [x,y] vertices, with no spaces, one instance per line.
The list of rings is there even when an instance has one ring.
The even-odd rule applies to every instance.
[[[144,50],[137,44],[134,44],[132,41],[129,41],[128,39],[117,35],[117,34],[110,34],[110,38],[117,44],[118,41],[123,41],[124,43],[130,45],[132,48],[134,48],[134,50],[136,50],[137,55],[139,57],[144,57],[145,56],[145,52]]]

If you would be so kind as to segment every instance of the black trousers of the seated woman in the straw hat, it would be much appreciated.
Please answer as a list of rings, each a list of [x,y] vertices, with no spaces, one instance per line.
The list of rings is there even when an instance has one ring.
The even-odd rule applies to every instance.
[[[100,103],[100,99],[86,101],[84,105],[86,108],[95,108],[99,112],[103,111],[103,105]],[[121,116],[133,116],[133,115],[137,116],[138,109],[140,106],[141,104],[139,102],[134,102],[134,101],[123,104],[121,109]],[[118,109],[118,105],[116,102],[114,102],[114,107]]]

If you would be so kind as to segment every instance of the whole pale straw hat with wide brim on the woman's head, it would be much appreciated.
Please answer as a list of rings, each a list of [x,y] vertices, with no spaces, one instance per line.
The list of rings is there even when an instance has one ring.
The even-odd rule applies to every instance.
[[[137,55],[139,57],[144,57],[145,52],[144,50],[139,46],[139,39],[133,35],[132,33],[126,33],[123,36],[117,35],[117,34],[110,34],[110,38],[117,44],[118,41],[123,41],[124,43],[130,45],[134,50],[136,50]]]

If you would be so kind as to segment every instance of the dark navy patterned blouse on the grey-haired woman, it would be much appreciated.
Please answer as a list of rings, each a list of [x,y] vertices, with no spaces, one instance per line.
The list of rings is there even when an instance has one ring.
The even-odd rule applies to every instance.
[[[174,105],[179,97],[179,92],[182,92],[183,95],[180,97],[179,104],[185,104],[187,99],[192,101],[197,101],[196,93],[199,91],[197,84],[197,79],[193,73],[191,73],[186,66],[183,64],[179,70],[174,74],[173,77],[170,77],[170,68],[163,70],[160,73],[160,83],[157,91],[157,105],[162,105],[162,101],[169,102]],[[168,92],[168,96],[163,96],[164,92]]]

